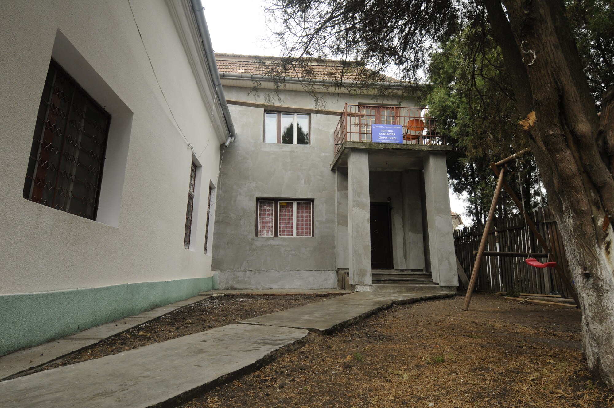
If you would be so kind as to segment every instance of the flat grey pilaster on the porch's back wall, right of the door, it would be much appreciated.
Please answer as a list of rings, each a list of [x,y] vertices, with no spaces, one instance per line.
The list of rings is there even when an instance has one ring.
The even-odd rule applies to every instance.
[[[424,270],[420,171],[403,171],[401,190],[403,194],[403,249],[405,252],[406,268]]]

